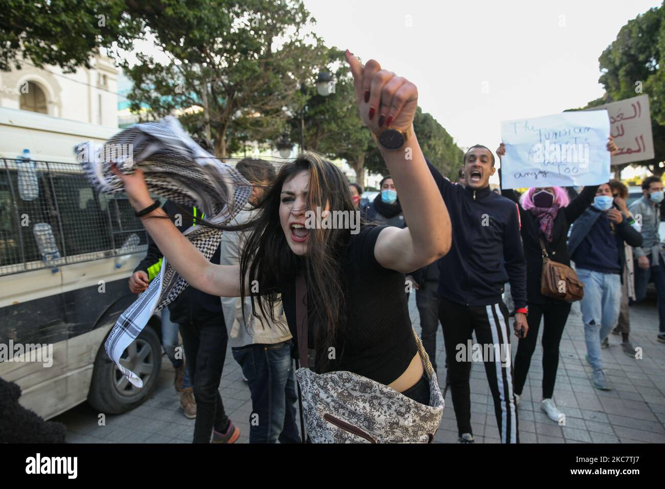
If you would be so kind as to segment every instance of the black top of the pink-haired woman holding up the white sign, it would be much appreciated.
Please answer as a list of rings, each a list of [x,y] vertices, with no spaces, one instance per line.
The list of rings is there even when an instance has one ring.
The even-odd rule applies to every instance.
[[[527,259],[527,301],[529,303],[544,304],[556,299],[549,299],[541,294],[541,273],[543,273],[543,252],[539,238],[543,238],[545,249],[550,259],[563,263],[564,265],[571,265],[571,257],[568,254],[568,231],[571,224],[575,222],[579,216],[593,202],[596,196],[597,185],[587,186],[577,194],[568,204],[568,206],[559,209],[557,217],[554,218],[554,227],[552,230],[552,242],[547,243],[545,237],[540,232],[540,220],[533,215],[532,212],[523,209],[519,206],[519,200],[513,190],[501,190],[501,195],[509,198],[513,202],[517,202],[519,206],[519,214],[522,222],[521,235],[522,243],[524,245],[524,255]]]

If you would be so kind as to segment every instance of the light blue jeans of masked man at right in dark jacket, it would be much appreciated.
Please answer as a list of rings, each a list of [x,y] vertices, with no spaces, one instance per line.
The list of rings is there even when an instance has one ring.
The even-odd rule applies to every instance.
[[[578,268],[577,276],[585,285],[580,309],[589,363],[594,370],[602,370],[600,343],[616,326],[619,317],[621,275]]]

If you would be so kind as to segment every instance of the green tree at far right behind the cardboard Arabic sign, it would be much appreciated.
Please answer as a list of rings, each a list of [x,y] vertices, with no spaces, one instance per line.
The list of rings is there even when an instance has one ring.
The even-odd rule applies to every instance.
[[[649,95],[654,158],[638,164],[662,175],[665,160],[665,10],[656,7],[624,25],[616,40],[600,55],[599,82],[605,94],[587,104],[593,107],[630,98],[642,92]],[[641,90],[641,91],[640,91]]]

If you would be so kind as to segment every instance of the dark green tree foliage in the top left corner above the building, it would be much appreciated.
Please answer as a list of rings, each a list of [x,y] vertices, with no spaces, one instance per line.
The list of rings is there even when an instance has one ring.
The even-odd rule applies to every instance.
[[[122,0],[0,0],[0,71],[58,65],[65,73],[90,68],[90,56],[116,43],[130,49],[141,21]]]

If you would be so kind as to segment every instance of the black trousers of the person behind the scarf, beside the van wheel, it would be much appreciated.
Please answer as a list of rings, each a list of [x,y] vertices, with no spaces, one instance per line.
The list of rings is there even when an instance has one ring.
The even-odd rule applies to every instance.
[[[192,317],[188,323],[180,323],[180,335],[194,385],[194,443],[209,443],[213,427],[218,432],[225,432],[229,425],[219,395],[219,381],[229,339],[224,317],[221,313]]]

